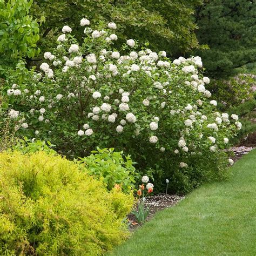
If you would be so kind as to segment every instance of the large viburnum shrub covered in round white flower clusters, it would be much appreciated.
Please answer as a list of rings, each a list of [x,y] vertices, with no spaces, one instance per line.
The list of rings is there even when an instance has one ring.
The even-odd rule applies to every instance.
[[[179,192],[223,177],[222,150],[241,123],[217,112],[201,58],[171,62],[165,51],[136,51],[133,39],[117,50],[116,24],[92,30],[84,18],[80,25],[82,45],[65,25],[40,72],[9,80],[9,116],[22,116],[19,133],[50,140],[69,157],[96,146],[123,150],[137,169],[154,170],[155,184],[169,178]]]

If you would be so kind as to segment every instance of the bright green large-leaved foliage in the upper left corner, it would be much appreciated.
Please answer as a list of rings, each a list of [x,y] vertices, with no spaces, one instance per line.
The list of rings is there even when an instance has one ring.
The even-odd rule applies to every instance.
[[[32,1],[0,0],[0,77],[22,58],[39,53],[39,24],[30,16]]]

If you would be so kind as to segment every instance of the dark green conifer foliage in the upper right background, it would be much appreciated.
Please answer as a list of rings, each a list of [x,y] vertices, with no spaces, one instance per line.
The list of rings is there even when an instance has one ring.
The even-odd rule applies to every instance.
[[[250,0],[204,0],[196,10],[199,44],[210,50],[194,52],[209,76],[229,76],[256,60],[256,8]]]

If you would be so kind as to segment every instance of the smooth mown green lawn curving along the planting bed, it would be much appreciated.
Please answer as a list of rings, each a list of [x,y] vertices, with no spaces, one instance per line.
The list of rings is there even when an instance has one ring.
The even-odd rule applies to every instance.
[[[256,150],[232,173],[158,213],[111,255],[256,255]]]

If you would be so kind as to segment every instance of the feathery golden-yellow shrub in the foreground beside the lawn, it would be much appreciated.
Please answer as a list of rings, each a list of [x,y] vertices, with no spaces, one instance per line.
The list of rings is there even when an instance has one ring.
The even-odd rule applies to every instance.
[[[45,152],[0,153],[0,254],[99,255],[127,235],[132,195]]]

